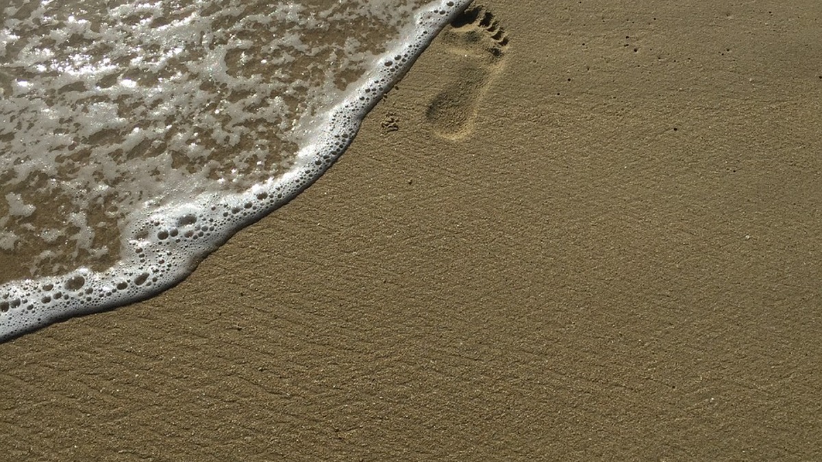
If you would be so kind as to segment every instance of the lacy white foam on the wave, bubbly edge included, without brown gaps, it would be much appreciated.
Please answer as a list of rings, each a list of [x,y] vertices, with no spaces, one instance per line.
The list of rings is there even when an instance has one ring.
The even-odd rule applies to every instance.
[[[16,37],[19,35],[16,30],[25,29],[21,26],[21,21],[30,21],[31,24],[43,27],[58,21],[55,19],[58,15],[48,10],[48,3],[39,2],[39,7],[25,20],[8,19],[16,14],[19,16],[20,13],[17,10],[11,11],[14,10],[12,7],[7,8],[7,21],[0,30],[0,58],[10,59],[8,57],[13,54],[12,49],[16,46]],[[25,158],[26,162],[0,162],[0,172],[13,173],[8,182],[13,183],[15,178],[26,178],[34,171],[49,172],[54,164],[59,164],[59,155],[71,153],[69,148],[73,146],[72,143],[76,143],[78,136],[82,140],[94,140],[95,136],[105,137],[119,131],[123,136],[115,147],[95,145],[90,148],[91,155],[102,153],[104,156],[123,157],[124,153],[132,153],[141,149],[141,146],[145,148],[160,143],[166,150],[155,155],[150,162],[138,158],[136,164],[129,164],[128,168],[160,169],[160,176],[171,177],[164,178],[165,182],[162,184],[166,189],[169,184],[174,185],[173,193],[164,190],[163,193],[149,194],[145,192],[152,191],[150,175],[134,176],[136,184],[123,186],[122,181],[118,182],[118,179],[122,180],[122,175],[118,176],[118,169],[123,168],[122,164],[113,162],[104,168],[98,165],[94,169],[81,163],[74,164],[73,167],[78,172],[83,173],[83,169],[89,169],[90,173],[85,177],[82,174],[78,176],[86,178],[85,183],[77,182],[73,186],[68,184],[68,189],[61,190],[62,194],[71,196],[74,191],[71,188],[76,189],[71,201],[76,210],[69,211],[62,218],[63,222],[72,224],[73,234],[67,236],[64,230],[45,227],[36,229],[37,235],[45,243],[64,239],[69,243],[69,248],[73,244],[75,256],[83,254],[92,259],[105,256],[109,248],[95,247],[95,229],[99,228],[97,224],[89,222],[91,215],[85,212],[85,207],[89,205],[90,197],[118,197],[121,207],[118,210],[128,210],[118,219],[118,226],[122,229],[118,261],[106,270],[95,271],[79,267],[62,275],[2,284],[0,340],[7,340],[68,317],[99,312],[148,298],[182,280],[205,255],[224,243],[238,229],[282,206],[319,178],[349,146],[363,117],[381,95],[407,71],[413,60],[436,35],[436,31],[464,9],[469,0],[440,0],[427,6],[400,1],[395,3],[393,9],[387,8],[385,2],[358,2],[356,7],[348,10],[327,10],[326,16],[306,16],[305,8],[294,2],[270,7],[269,15],[243,16],[242,8],[234,3],[231,3],[234,7],[229,5],[220,10],[222,18],[229,17],[234,21],[266,27],[273,20],[282,21],[286,25],[299,23],[302,27],[310,28],[312,24],[322,27],[322,21],[335,17],[338,21],[366,18],[367,21],[383,21],[391,27],[399,28],[394,41],[378,55],[369,55],[367,50],[363,51],[355,43],[356,39],[349,39],[335,49],[320,45],[311,47],[288,27],[272,29],[282,36],[272,38],[265,45],[270,57],[248,63],[249,66],[280,66],[274,71],[285,72],[283,64],[297,62],[302,56],[339,53],[339,56],[331,55],[330,62],[342,61],[340,68],[353,66],[360,71],[358,80],[349,84],[344,91],[339,90],[339,75],[331,75],[327,69],[310,65],[307,72],[325,76],[319,84],[317,81],[310,81],[310,77],[307,77],[307,81],[301,81],[286,75],[286,80],[290,78],[289,85],[278,86],[276,82],[265,81],[260,74],[230,75],[226,72],[227,59],[242,63],[242,59],[253,55],[243,53],[252,43],[242,37],[242,30],[236,36],[220,35],[215,33],[213,23],[205,18],[202,10],[183,11],[177,16],[168,17],[168,13],[160,7],[161,3],[126,3],[110,10],[109,14],[117,16],[123,24],[130,24],[131,29],[118,29],[106,24],[95,25],[93,21],[70,15],[60,22],[59,28],[52,28],[48,43],[43,41],[32,45],[29,42],[25,45],[30,46],[30,49],[24,50],[26,53],[21,53],[20,50],[14,52],[17,59],[15,65],[24,67],[29,74],[25,79],[16,78],[9,82],[6,78],[3,81],[0,74],[0,89],[4,92],[0,99],[0,113],[13,113],[20,109],[21,104],[39,113],[37,130],[28,134],[24,131],[11,142],[11,149],[17,150],[16,154]],[[161,21],[155,23],[157,18]],[[55,49],[71,46],[68,44],[72,40],[82,42],[84,39],[108,40],[106,46],[110,46],[110,49],[96,57],[77,53],[69,60],[54,61]],[[156,44],[155,51],[158,53],[152,54],[150,50],[144,49],[140,53],[134,53],[134,48],[126,47],[126,44],[134,40],[141,44]],[[191,46],[202,44],[205,52],[192,62],[175,62],[175,57],[187,53],[184,47],[181,49],[178,45],[181,41]],[[152,74],[154,80],[141,81],[139,73],[133,76],[114,74],[113,71],[122,62],[115,62],[117,59],[112,59],[112,56],[121,60],[128,58],[129,66],[138,67],[145,72],[156,72]],[[21,62],[24,59],[27,61]],[[182,67],[190,73],[189,76],[197,76],[197,79],[181,75]],[[174,71],[175,68],[177,72],[164,73],[164,70]],[[2,71],[0,68],[0,72]],[[38,85],[38,76],[48,76],[48,85]],[[53,97],[55,85],[69,89],[62,93],[62,102],[69,109],[58,109],[44,103],[45,99]],[[215,103],[214,99],[205,98],[202,95],[204,91],[207,92],[203,90],[204,85],[206,90],[209,85],[233,88],[237,95],[233,94],[232,97],[239,95],[241,104],[234,104],[238,101],[220,104],[219,99]],[[37,91],[43,93],[32,96]],[[139,101],[144,106],[127,109],[142,118],[123,118],[122,104],[137,101],[130,99],[136,91],[141,92]],[[214,91],[219,92],[219,88]],[[95,102],[85,100],[86,104],[82,107],[72,107],[72,99],[88,96],[84,92],[105,95],[105,98]],[[295,106],[290,100],[300,92],[310,95],[309,100],[315,101],[315,104]],[[8,93],[12,95],[7,95]],[[189,120],[167,120],[169,117],[180,117],[180,107],[202,109],[203,105],[208,104],[211,105],[210,113],[194,111],[188,114],[200,122],[199,125],[192,124]],[[289,118],[289,109],[297,111],[299,117]],[[59,113],[60,111],[64,112]],[[72,127],[75,130],[79,127],[82,132],[66,132],[67,123],[76,123]],[[254,142],[258,133],[247,127],[266,130],[266,124],[285,130],[288,133],[286,139],[261,144]],[[12,125],[14,119],[6,126],[0,123],[0,139],[13,132]],[[136,127],[132,127],[134,125]],[[214,127],[208,134],[214,142],[203,141],[201,136],[205,133],[199,133],[198,127]],[[247,144],[251,146],[246,146]],[[227,150],[241,150],[242,146],[245,151],[238,157],[232,157],[235,164],[230,167],[246,168],[246,174],[233,178],[230,173],[220,170],[225,165],[220,165],[219,160],[210,159],[206,146],[221,146],[221,149]],[[272,149],[289,146],[298,147],[293,155],[284,156],[281,162],[273,166],[266,163],[266,156],[277,154],[272,153]],[[99,152],[95,152],[95,149]],[[36,151],[37,155],[26,157],[26,150]],[[205,161],[194,172],[175,169],[174,164],[179,159],[172,153],[187,159]],[[7,159],[5,155],[3,159]],[[248,165],[252,167],[247,168]],[[108,175],[111,181],[99,181],[90,188],[90,175]],[[249,178],[253,181],[249,181]],[[48,188],[49,183],[44,184]],[[226,187],[227,185],[233,187]],[[111,191],[127,192],[134,196],[123,199]],[[15,247],[20,238],[16,234],[17,229],[8,229],[12,224],[9,217],[36,215],[35,206],[27,204],[19,193],[7,194],[6,200],[9,216],[5,217],[5,222],[0,219],[0,225],[6,228],[0,233],[0,248]],[[104,226],[111,225],[104,221],[101,223]],[[48,248],[40,254],[41,261],[55,258],[48,252],[58,251]]]

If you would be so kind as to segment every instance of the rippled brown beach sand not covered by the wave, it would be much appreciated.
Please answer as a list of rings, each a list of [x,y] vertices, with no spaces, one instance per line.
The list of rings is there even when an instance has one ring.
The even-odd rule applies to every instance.
[[[0,459],[822,460],[822,3],[483,3],[188,280],[0,344]]]

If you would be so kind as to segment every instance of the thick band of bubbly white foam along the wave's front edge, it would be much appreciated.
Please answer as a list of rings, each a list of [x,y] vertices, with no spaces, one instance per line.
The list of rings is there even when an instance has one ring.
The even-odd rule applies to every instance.
[[[289,202],[325,173],[357,134],[363,118],[399,81],[436,34],[471,0],[439,0],[418,12],[401,39],[347,90],[304,139],[293,167],[279,178],[231,195],[205,193],[147,217],[132,215],[121,259],[109,270],[0,285],[0,342],[58,321],[103,312],[155,296],[190,275],[233,233]]]

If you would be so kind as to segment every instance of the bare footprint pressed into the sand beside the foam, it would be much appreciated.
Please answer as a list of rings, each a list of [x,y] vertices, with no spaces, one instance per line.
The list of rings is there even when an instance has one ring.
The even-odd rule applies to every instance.
[[[426,118],[437,135],[458,139],[473,132],[478,103],[505,61],[508,37],[491,12],[472,6],[442,31],[441,41],[453,65]]]

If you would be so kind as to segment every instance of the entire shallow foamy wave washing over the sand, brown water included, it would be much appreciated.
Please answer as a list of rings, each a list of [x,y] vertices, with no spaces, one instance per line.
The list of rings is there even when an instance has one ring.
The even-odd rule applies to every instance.
[[[12,0],[0,341],[184,279],[319,178],[468,4]]]

